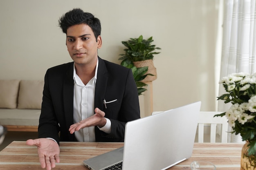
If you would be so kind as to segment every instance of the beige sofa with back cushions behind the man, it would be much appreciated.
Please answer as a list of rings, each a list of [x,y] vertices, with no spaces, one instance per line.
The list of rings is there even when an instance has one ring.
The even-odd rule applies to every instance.
[[[0,80],[0,125],[37,132],[43,86],[43,80]]]

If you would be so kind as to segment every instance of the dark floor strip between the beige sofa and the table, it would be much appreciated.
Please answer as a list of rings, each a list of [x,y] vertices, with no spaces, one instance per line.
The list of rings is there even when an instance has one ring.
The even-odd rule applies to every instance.
[[[0,150],[9,145],[12,141],[26,141],[27,139],[36,139],[37,132],[7,132],[4,141],[0,144]]]

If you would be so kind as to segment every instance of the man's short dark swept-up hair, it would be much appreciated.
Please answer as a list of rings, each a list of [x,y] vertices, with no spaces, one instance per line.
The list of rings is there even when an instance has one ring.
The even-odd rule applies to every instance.
[[[67,29],[70,26],[77,24],[86,24],[92,29],[94,36],[97,38],[101,35],[101,22],[98,18],[88,12],[83,12],[83,10],[76,8],[68,11],[58,21],[63,33],[67,34]]]

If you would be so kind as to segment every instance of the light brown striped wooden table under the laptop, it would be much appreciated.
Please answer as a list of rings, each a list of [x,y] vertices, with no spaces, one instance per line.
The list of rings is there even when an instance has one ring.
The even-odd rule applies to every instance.
[[[53,170],[89,170],[83,160],[114,150],[123,143],[61,142],[60,163]],[[217,170],[240,170],[243,144],[195,143],[192,157],[168,170],[190,170],[192,161],[210,161]],[[42,170],[36,146],[25,141],[13,141],[0,152],[0,170]]]

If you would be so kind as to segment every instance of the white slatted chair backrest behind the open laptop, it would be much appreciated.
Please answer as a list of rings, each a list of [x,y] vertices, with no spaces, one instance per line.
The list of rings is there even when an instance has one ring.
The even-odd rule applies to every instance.
[[[155,111],[152,112],[151,115],[155,115],[161,113],[162,111]],[[221,142],[227,143],[227,130],[228,130],[228,123],[227,118],[223,117],[213,117],[214,115],[220,114],[223,112],[213,112],[213,111],[200,111],[199,113],[199,120],[198,120],[198,143],[204,142],[204,125],[210,124],[210,142],[216,143],[216,127],[218,124],[221,125]]]

